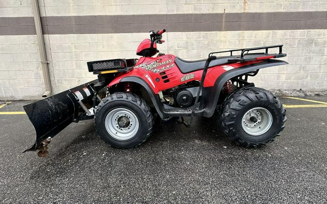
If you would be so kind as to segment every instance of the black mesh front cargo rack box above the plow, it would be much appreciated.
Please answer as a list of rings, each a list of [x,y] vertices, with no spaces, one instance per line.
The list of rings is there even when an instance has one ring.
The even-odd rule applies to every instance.
[[[87,62],[87,66],[89,72],[93,72],[94,74],[127,72],[133,68],[137,60],[138,59],[108,59],[89,61]]]

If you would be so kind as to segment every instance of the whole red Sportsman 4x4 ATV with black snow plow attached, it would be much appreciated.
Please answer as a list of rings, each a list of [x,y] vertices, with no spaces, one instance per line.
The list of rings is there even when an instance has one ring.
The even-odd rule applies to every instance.
[[[273,59],[286,56],[283,45],[213,52],[207,59],[186,61],[158,53],[165,31],[150,31],[150,39],[137,49],[140,59],[88,62],[98,80],[25,105],[36,130],[35,144],[25,151],[40,150],[38,155],[45,156],[53,136],[71,122],[92,118],[100,137],[120,148],[146,141],[155,115],[163,120],[180,117],[189,127],[193,117],[212,117],[218,110],[221,129],[247,147],[265,145],[280,134],[286,110],[276,96],[254,87],[248,77],[259,69],[287,64]],[[268,54],[271,48],[279,53]],[[215,56],[220,53],[229,55]]]

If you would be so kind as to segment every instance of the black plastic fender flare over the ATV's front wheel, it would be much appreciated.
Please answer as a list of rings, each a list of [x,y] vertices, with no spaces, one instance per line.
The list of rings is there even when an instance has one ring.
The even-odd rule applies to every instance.
[[[164,118],[163,111],[162,111],[162,104],[160,103],[159,95],[155,94],[152,88],[142,78],[138,76],[126,76],[122,78],[119,82],[135,82],[140,84],[140,86],[144,87],[145,90],[148,92],[150,99],[156,108],[156,112],[161,118]]]

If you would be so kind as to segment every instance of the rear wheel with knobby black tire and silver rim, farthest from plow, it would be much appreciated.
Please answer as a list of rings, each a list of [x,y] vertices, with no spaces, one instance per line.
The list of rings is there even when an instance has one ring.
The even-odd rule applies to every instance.
[[[235,143],[246,147],[265,146],[280,135],[286,110],[269,91],[249,87],[236,91],[221,107],[219,123]]]

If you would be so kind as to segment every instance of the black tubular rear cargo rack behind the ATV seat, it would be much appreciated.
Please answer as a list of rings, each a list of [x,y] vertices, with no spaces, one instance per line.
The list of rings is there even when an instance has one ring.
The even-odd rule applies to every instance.
[[[269,48],[279,48],[279,53],[278,54],[269,54],[268,49]],[[264,47],[251,47],[251,48],[244,48],[244,49],[236,49],[236,50],[226,50],[226,51],[220,51],[220,52],[211,52],[209,54],[209,57],[212,56],[213,54],[217,53],[225,53],[225,52],[230,52],[231,55],[235,58],[230,58],[228,59],[229,62],[247,62],[247,61],[255,61],[255,60],[260,60],[260,59],[268,59],[268,58],[282,58],[286,57],[285,53],[282,53],[282,44],[279,45],[272,45],[272,46],[264,46]],[[265,52],[263,53],[249,53],[249,51],[252,50],[263,50],[265,49]],[[241,55],[233,55],[233,52],[241,51]]]

